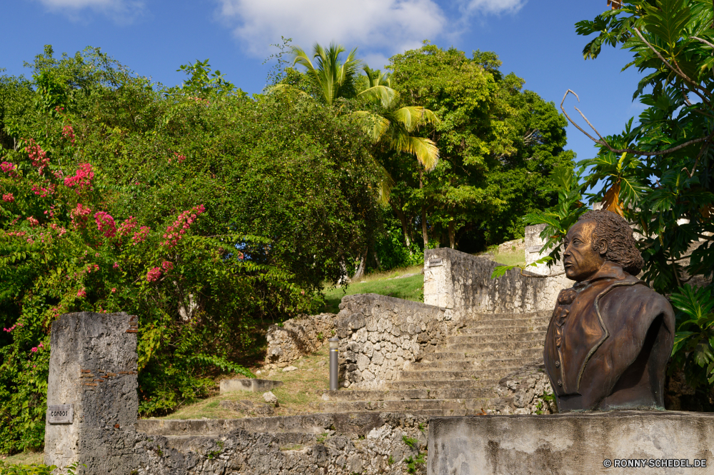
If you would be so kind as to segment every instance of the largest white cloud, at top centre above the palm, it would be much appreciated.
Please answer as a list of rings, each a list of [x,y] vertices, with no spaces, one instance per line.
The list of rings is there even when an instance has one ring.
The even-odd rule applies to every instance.
[[[418,48],[423,39],[441,34],[447,24],[443,11],[433,0],[218,2],[220,19],[233,28],[236,37],[256,56],[265,56],[268,45],[278,43],[281,36],[292,38],[293,44],[306,51],[315,42],[326,45],[336,41],[348,49],[360,46],[362,52],[393,54]]]

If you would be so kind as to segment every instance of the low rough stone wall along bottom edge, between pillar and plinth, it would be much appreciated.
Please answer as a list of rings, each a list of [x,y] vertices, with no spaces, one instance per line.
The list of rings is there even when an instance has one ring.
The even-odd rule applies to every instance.
[[[136,474],[141,475],[288,475],[335,474],[377,475],[407,473],[408,459],[426,449],[428,416],[408,414],[340,414],[341,419],[360,419],[363,430],[335,429],[337,414],[294,416],[317,422],[317,431],[253,432],[233,429],[220,435],[162,436],[153,434],[149,423],[137,424],[139,432],[127,434],[136,457]],[[316,419],[323,419],[322,424]],[[270,426],[271,419],[258,418]],[[240,421],[239,419],[238,421]],[[176,421],[186,424],[200,421]],[[299,424],[299,421],[296,422]],[[333,428],[333,429],[331,429]],[[142,432],[142,431],[147,432]],[[175,433],[174,433],[175,434]],[[406,444],[404,437],[413,441]],[[413,473],[426,472],[426,464],[415,464]]]

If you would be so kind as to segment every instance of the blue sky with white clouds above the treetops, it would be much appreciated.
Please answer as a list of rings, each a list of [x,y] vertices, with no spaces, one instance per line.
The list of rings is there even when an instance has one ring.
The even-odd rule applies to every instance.
[[[526,89],[556,105],[573,89],[600,133],[614,134],[642,110],[632,102],[638,73],[620,72],[627,51],[608,48],[584,61],[586,39],[573,26],[605,9],[605,0],[14,0],[3,5],[0,68],[28,74],[23,61],[45,44],[58,56],[99,46],[169,86],[183,79],[178,66],[210,58],[226,79],[255,93],[266,82],[270,66],[263,61],[275,51],[269,45],[281,36],[305,49],[331,40],[358,46],[358,56],[373,68],[429,39],[467,54],[495,51],[504,72],[521,76]],[[577,115],[572,96],[566,105]],[[573,126],[568,148],[578,159],[595,153]]]

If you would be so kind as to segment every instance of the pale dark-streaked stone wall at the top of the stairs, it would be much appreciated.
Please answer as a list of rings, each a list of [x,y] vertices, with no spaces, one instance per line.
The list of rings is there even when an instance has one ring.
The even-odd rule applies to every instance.
[[[451,310],[454,319],[478,313],[552,310],[560,289],[573,284],[564,274],[524,276],[520,269],[491,279],[498,265],[490,259],[449,248],[427,249],[424,303]]]

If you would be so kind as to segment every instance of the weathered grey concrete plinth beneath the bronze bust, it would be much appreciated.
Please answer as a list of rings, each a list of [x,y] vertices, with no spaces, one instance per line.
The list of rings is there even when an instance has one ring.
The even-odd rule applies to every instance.
[[[604,461],[613,462],[605,468]],[[708,468],[615,468],[615,459],[706,459]],[[429,475],[713,473],[714,414],[613,411],[430,421]]]

